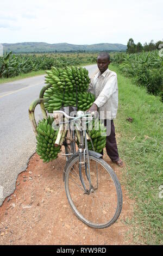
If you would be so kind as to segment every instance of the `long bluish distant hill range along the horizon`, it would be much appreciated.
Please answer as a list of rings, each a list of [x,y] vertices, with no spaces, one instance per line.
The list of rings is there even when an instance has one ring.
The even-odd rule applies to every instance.
[[[13,53],[30,52],[73,52],[73,51],[126,51],[127,46],[122,44],[93,44],[72,45],[63,42],[61,44],[47,44],[46,42],[17,42],[16,44],[2,44],[4,51]]]

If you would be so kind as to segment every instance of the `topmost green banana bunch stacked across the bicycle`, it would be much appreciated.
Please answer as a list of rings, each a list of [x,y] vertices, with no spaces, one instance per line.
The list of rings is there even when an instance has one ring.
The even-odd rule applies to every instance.
[[[61,69],[52,66],[52,70],[46,71],[46,74],[45,83],[51,84],[56,90],[73,92],[77,88],[78,92],[83,92],[89,87],[90,78],[85,68],[72,66]]]

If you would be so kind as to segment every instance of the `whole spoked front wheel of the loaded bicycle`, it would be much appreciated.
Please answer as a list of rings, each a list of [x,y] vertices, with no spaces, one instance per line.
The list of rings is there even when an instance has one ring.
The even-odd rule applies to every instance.
[[[122,210],[122,191],[114,170],[103,159],[89,156],[92,189],[85,193],[79,176],[79,156],[72,157],[66,168],[65,190],[77,217],[92,228],[113,224]],[[89,190],[88,175],[82,166],[82,179]]]

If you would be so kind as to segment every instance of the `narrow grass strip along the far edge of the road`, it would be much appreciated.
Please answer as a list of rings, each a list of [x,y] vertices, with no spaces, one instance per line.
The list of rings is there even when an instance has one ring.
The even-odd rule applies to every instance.
[[[81,64],[81,65],[77,65],[77,66],[87,66],[87,65],[93,65],[93,64],[95,64],[95,63],[87,62],[87,63],[83,63],[83,65]],[[20,79],[23,79],[23,78],[44,75],[45,71],[46,70],[32,71],[32,72],[29,72],[27,74],[21,74],[21,75],[15,76],[15,77],[0,78],[0,84],[20,80]]]

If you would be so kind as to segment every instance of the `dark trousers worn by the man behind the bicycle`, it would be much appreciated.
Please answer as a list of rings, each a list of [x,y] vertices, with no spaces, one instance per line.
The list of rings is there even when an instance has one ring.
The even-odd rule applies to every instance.
[[[107,120],[107,123],[109,125],[108,131],[110,132],[109,136],[106,136],[106,153],[112,160],[112,162],[116,162],[119,160],[118,155],[118,149],[117,149],[117,143],[116,143],[116,137],[115,137],[115,127],[113,120]],[[104,125],[106,126],[106,119],[104,120]],[[107,125],[107,126],[108,126]],[[101,153],[103,155],[103,151]]]

